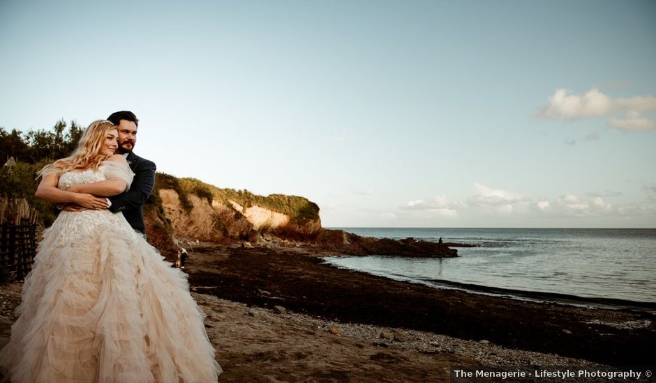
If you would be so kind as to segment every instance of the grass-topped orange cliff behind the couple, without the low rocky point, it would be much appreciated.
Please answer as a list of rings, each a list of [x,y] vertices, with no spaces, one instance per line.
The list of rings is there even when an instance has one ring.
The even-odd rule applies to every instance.
[[[307,198],[220,189],[194,178],[158,173],[144,208],[149,242],[164,256],[177,252],[174,238],[230,244],[264,235],[309,241],[320,231],[319,207]]]

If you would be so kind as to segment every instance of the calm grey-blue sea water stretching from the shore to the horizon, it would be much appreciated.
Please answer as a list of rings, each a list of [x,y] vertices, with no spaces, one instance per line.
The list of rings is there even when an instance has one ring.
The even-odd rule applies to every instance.
[[[329,257],[339,267],[467,290],[479,286],[656,302],[656,229],[341,228],[367,237],[477,244],[458,258]],[[511,293],[512,295],[512,293]]]

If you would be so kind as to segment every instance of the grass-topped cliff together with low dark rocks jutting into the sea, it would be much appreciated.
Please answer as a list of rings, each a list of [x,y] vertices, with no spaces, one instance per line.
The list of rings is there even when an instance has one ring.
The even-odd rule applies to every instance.
[[[317,251],[353,256],[455,257],[445,244],[360,237],[322,228],[319,207],[307,198],[220,189],[195,178],[158,173],[145,206],[149,242],[164,256],[177,253],[174,238],[231,244],[295,242]]]

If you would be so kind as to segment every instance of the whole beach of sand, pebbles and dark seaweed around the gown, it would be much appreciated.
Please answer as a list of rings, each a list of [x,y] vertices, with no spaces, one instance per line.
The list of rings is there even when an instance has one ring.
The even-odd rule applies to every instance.
[[[465,365],[653,364],[649,313],[437,290],[323,265],[315,249],[188,250],[221,382],[449,382]],[[0,289],[3,343],[20,288]]]

